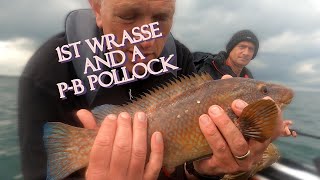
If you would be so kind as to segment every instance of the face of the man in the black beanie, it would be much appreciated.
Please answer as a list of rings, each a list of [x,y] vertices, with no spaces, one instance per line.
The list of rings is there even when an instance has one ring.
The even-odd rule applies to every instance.
[[[229,54],[231,63],[243,68],[251,61],[255,50],[254,48],[254,44],[249,41],[238,43]]]

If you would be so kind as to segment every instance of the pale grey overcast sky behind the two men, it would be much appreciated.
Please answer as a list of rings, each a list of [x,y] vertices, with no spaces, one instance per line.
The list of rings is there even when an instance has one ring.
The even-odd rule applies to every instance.
[[[0,75],[19,75],[34,51],[64,30],[87,0],[11,0],[0,7]],[[249,68],[256,79],[320,92],[319,0],[177,0],[174,36],[191,51],[218,53],[233,33],[260,40]]]

